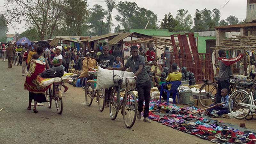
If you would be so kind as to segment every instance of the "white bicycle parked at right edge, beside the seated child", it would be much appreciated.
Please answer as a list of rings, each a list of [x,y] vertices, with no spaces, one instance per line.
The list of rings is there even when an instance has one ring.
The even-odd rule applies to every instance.
[[[243,85],[247,91],[249,89],[249,92],[244,89],[238,89],[230,95],[229,99],[229,111],[236,119],[244,119],[250,114],[250,112],[256,111],[254,83],[251,81],[246,81],[241,83],[241,85]],[[233,108],[231,108],[232,102]]]

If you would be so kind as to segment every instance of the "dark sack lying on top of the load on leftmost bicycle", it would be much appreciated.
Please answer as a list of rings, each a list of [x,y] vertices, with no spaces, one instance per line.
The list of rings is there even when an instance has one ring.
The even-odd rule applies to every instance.
[[[44,72],[41,73],[40,75],[43,78],[61,77],[64,75],[64,69],[61,66],[52,67],[52,68],[44,70]]]

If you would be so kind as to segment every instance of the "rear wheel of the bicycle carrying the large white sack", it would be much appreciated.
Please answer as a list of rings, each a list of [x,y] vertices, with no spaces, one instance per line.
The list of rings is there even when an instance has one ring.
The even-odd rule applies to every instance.
[[[119,111],[120,101],[117,102],[117,100],[118,98],[117,98],[116,89],[113,88],[110,93],[110,103],[109,103],[109,115],[112,120],[116,119],[116,116]]]

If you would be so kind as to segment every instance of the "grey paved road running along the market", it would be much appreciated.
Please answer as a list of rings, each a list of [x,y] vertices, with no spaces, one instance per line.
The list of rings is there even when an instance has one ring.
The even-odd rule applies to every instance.
[[[63,94],[62,115],[57,113],[55,105],[51,109],[38,106],[39,113],[33,113],[27,110],[28,91],[24,90],[25,76],[21,76],[21,66],[8,69],[8,62],[0,61],[0,74],[0,109],[3,108],[0,112],[1,144],[212,143],[157,122],[136,120],[128,129],[121,114],[113,121],[109,118],[108,109],[100,112],[95,101],[91,107],[82,104],[84,91],[71,85]]]

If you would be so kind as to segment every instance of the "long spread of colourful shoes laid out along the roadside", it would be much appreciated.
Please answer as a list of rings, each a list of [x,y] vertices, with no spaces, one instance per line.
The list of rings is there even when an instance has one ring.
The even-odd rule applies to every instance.
[[[198,110],[195,107],[179,107],[152,100],[149,109],[151,110],[149,112],[150,119],[218,144],[254,144],[256,141],[255,133],[251,131],[239,131],[218,122],[218,120],[206,118],[203,115],[202,117],[201,114],[191,115]]]

